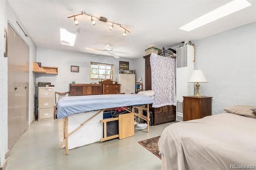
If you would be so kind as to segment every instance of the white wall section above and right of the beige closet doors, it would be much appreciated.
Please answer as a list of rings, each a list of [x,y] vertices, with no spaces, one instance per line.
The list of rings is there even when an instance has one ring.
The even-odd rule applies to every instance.
[[[10,6],[9,3],[7,3],[7,18],[8,18],[8,23],[12,26],[12,28],[16,31],[16,33],[18,33],[18,35],[23,39],[24,42],[26,42],[26,44],[28,45],[28,47],[30,47],[30,71],[29,71],[29,103],[28,103],[28,122],[31,123],[34,120],[34,96],[35,94],[35,82],[36,82],[36,75],[35,73],[32,72],[32,63],[36,61],[36,45],[34,43],[34,41],[30,38],[29,33],[26,31],[26,29],[23,27],[22,23],[20,22],[18,16],[16,15],[16,13],[14,12],[14,10],[12,9],[12,7]],[[20,29],[20,27],[18,26],[18,24],[16,23],[16,21],[18,21],[18,23],[20,24],[20,26],[22,27],[22,29],[25,31],[25,33],[28,35],[28,37],[26,37],[23,33],[23,31]]]

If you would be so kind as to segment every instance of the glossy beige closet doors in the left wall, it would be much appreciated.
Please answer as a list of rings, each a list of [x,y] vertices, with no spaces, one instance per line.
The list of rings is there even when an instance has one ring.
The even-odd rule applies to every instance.
[[[8,149],[11,149],[28,127],[29,47],[10,25],[8,31]]]

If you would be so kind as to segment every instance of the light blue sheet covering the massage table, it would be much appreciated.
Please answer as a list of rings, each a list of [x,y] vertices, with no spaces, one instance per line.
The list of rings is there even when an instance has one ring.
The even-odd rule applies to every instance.
[[[62,119],[75,113],[112,107],[152,104],[153,102],[152,98],[143,94],[67,96],[58,101],[56,115],[58,119]]]

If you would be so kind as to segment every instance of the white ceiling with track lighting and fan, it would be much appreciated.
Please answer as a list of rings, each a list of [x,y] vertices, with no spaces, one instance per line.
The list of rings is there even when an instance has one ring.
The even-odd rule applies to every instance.
[[[252,5],[224,18],[208,23],[190,32],[178,29],[230,0],[8,0],[37,47],[62,49],[82,53],[94,53],[84,47],[102,49],[106,44],[113,51],[130,55],[120,57],[135,59],[145,55],[145,49],[154,43],[157,47],[174,47],[184,40],[198,40],[234,27],[256,21],[256,1]],[[92,25],[90,16],[67,18],[81,11],[94,16],[104,16],[131,30],[126,37],[124,29],[111,23],[96,20]],[[60,45],[60,28],[77,31],[74,47]],[[95,51],[94,54],[97,52]]]

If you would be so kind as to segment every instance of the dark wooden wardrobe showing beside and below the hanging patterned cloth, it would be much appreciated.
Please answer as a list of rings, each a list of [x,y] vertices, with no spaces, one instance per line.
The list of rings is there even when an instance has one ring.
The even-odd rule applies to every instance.
[[[152,90],[150,55],[143,57],[145,59],[145,90]],[[163,106],[154,108],[152,107],[152,104],[150,104],[149,110],[153,113],[154,125],[175,121],[176,119],[176,106]]]

